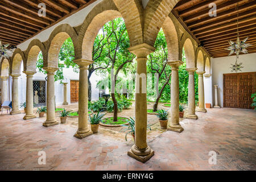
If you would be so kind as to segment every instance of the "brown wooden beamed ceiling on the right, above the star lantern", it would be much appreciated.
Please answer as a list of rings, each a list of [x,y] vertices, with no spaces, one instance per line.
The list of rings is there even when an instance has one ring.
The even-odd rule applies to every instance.
[[[228,56],[228,40],[237,39],[237,2],[239,34],[249,53],[256,52],[256,0],[181,0],[172,10],[183,27],[212,57]],[[217,5],[217,16],[209,16],[209,3]]]

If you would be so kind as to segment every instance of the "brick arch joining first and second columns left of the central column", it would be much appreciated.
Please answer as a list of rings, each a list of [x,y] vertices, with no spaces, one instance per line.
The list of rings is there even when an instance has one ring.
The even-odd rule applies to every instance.
[[[58,68],[59,52],[60,48],[68,38],[72,39],[75,54],[76,54],[76,40],[77,33],[75,28],[71,27],[69,24],[64,23],[57,26],[49,36],[46,44],[46,59],[44,59],[44,67],[48,68]]]

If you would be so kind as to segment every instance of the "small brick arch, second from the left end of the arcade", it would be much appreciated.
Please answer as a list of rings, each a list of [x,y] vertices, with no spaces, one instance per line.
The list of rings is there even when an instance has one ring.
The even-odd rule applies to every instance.
[[[11,73],[20,75],[20,65],[25,60],[25,55],[21,49],[16,48],[11,57]],[[24,64],[23,64],[24,67]]]

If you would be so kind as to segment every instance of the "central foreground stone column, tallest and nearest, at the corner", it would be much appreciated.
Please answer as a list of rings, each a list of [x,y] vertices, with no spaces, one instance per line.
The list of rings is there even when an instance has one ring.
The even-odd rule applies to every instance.
[[[130,47],[137,56],[137,75],[135,89],[135,144],[127,152],[132,158],[144,163],[154,155],[147,146],[147,55],[155,50],[146,43]]]

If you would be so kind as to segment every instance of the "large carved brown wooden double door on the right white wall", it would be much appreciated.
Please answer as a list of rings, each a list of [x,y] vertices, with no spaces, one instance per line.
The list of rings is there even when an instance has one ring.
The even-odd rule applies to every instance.
[[[255,93],[256,72],[223,75],[224,107],[253,109],[251,94]]]

